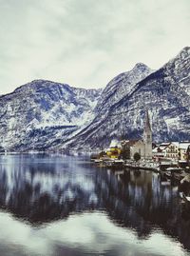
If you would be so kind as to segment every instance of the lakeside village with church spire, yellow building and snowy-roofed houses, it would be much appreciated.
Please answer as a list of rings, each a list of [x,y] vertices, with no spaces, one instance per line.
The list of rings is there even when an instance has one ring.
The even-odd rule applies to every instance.
[[[108,149],[91,157],[101,167],[130,168],[159,172],[161,183],[179,185],[180,196],[190,212],[190,141],[152,142],[152,129],[146,110],[142,139],[111,142]]]

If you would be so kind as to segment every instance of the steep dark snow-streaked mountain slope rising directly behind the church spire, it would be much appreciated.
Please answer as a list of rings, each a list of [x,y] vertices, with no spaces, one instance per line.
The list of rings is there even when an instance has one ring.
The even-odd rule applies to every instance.
[[[72,147],[107,147],[110,141],[142,136],[144,110],[151,114],[153,138],[189,140],[190,48],[184,48],[176,58],[152,72],[132,87],[104,114],[67,144]]]

